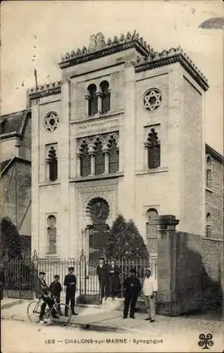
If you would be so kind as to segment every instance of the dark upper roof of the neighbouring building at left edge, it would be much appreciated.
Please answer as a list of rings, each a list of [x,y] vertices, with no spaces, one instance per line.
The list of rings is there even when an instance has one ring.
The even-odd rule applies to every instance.
[[[30,109],[2,115],[0,117],[0,140],[13,136],[23,136],[25,126],[30,116]]]

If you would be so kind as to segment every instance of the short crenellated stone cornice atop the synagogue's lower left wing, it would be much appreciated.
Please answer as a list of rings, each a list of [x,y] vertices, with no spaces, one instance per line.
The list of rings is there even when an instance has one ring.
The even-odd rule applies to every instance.
[[[45,83],[45,85],[40,85],[35,88],[30,88],[30,90],[28,90],[30,100],[37,100],[38,98],[61,93],[61,84],[61,81],[56,81],[53,83]]]

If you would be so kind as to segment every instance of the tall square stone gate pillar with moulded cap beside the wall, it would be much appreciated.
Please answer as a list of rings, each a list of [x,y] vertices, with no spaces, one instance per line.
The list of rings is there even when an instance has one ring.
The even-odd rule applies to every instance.
[[[179,220],[173,215],[158,216],[158,313],[177,316],[175,295],[177,237],[175,227]]]

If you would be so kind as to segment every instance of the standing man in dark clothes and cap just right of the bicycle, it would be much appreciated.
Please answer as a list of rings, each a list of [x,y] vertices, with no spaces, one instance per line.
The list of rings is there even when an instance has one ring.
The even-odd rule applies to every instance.
[[[76,295],[76,276],[73,274],[74,268],[69,267],[69,274],[64,277],[64,286],[66,286],[66,305],[71,301],[71,314],[78,315],[75,312],[75,295]],[[68,316],[68,309],[65,309],[65,316]]]

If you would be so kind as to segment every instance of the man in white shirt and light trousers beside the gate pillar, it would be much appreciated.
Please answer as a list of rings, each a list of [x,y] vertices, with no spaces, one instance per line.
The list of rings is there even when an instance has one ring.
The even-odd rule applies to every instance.
[[[158,291],[157,282],[151,277],[151,270],[146,270],[146,277],[143,280],[143,297],[146,303],[148,318],[145,320],[153,323],[155,321],[155,298]]]

